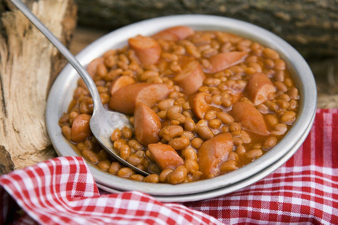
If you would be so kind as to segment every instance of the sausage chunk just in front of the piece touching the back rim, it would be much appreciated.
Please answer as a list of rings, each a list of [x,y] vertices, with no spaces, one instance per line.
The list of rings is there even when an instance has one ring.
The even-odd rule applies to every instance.
[[[134,49],[137,58],[144,65],[156,63],[162,52],[162,48],[157,40],[151,37],[138,35],[128,39],[130,48]]]

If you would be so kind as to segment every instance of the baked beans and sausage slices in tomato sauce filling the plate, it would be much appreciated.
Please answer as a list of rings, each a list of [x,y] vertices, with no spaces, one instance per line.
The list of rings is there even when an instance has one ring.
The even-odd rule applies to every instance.
[[[80,79],[58,121],[79,154],[110,174],[180,184],[241,168],[271,150],[297,118],[299,93],[278,52],[220,31],[171,27],[138,35],[87,67],[102,104],[132,129],[111,131],[116,162],[92,136],[93,100]]]

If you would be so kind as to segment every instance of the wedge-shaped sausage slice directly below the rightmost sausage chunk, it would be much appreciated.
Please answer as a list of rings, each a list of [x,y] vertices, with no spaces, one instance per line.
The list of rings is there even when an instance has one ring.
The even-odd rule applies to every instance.
[[[255,106],[246,102],[237,102],[228,113],[235,119],[235,122],[242,125],[244,130],[260,135],[269,134],[264,118]]]

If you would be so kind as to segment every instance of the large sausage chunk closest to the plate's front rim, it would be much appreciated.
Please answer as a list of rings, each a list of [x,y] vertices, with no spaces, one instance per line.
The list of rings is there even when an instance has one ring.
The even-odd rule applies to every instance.
[[[220,166],[233,150],[233,144],[232,136],[228,132],[217,134],[201,144],[197,151],[197,158],[203,178],[218,175]]]

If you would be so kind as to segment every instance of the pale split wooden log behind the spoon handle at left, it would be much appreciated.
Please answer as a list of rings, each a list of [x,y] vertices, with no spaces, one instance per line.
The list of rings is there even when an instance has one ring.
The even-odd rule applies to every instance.
[[[76,22],[73,0],[26,1],[65,45]],[[15,168],[56,156],[45,125],[48,90],[65,65],[54,46],[13,5],[2,2],[0,35],[0,145]]]

